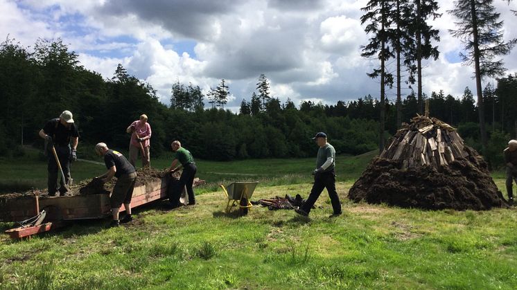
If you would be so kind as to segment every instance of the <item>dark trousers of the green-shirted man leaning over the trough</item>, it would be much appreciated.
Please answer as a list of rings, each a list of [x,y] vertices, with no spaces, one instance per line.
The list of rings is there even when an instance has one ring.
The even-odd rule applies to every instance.
[[[179,198],[182,196],[184,187],[186,187],[186,193],[189,194],[189,203],[195,203],[192,183],[194,182],[196,171],[198,171],[198,167],[195,167],[194,163],[190,163],[183,167],[182,176],[179,177],[179,180],[168,176],[167,195],[172,206],[179,206]]]

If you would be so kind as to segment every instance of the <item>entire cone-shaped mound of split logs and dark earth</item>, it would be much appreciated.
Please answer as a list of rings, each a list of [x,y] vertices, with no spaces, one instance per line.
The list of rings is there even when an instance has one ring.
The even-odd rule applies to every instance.
[[[437,136],[440,131],[450,136],[457,132],[439,120],[430,120],[419,116],[399,130],[381,157],[374,158],[353,184],[349,199],[429,210],[507,207],[483,158],[464,145],[459,135],[451,139]],[[418,141],[413,142],[415,138]]]

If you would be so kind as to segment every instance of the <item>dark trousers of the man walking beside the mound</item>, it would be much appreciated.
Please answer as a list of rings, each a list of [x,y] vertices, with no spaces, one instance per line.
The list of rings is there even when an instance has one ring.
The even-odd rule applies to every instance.
[[[309,197],[307,201],[301,206],[301,209],[305,212],[310,212],[310,209],[313,208],[314,203],[319,197],[319,194],[322,194],[322,191],[326,188],[328,192],[328,197],[331,198],[332,208],[334,213],[341,212],[341,203],[340,198],[338,197],[338,192],[335,191],[335,173],[331,172],[322,172],[317,173],[314,176],[314,185],[313,189],[310,190]]]

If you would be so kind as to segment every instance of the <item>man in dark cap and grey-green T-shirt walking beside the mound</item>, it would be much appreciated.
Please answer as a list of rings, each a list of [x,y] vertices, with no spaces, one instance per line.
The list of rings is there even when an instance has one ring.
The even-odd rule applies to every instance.
[[[314,185],[310,190],[307,201],[295,209],[299,215],[308,216],[310,209],[313,208],[314,203],[322,194],[324,188],[328,192],[328,197],[331,198],[332,208],[334,210],[333,216],[341,215],[341,203],[338,197],[338,192],[335,191],[335,149],[332,145],[326,142],[326,134],[319,132],[314,136],[319,149],[317,151],[316,169],[313,170]]]

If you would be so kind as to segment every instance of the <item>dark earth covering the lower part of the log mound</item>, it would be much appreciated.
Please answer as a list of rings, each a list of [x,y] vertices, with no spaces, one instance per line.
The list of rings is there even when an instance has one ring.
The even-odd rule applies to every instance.
[[[349,190],[352,201],[387,203],[402,208],[489,210],[507,207],[484,162],[475,150],[443,167],[402,170],[401,161],[375,158]]]

